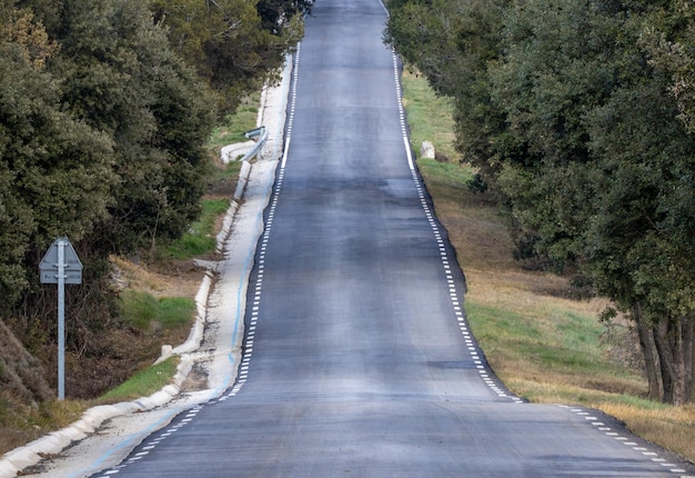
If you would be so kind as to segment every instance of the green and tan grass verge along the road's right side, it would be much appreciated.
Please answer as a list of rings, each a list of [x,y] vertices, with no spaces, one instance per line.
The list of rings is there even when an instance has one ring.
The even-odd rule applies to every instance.
[[[447,101],[410,72],[403,88],[415,150],[426,139],[455,158]],[[419,167],[466,273],[471,327],[510,389],[535,402],[598,408],[695,461],[695,406],[644,399],[628,325],[600,322],[605,300],[572,300],[563,278],[522,269],[495,205],[469,190],[470,168],[422,159]]]

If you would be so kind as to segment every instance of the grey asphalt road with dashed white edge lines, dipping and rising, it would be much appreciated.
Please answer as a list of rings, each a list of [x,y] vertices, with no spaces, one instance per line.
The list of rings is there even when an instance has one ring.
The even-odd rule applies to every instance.
[[[591,410],[524,404],[467,329],[377,0],[318,0],[225,394],[99,477],[679,476]]]

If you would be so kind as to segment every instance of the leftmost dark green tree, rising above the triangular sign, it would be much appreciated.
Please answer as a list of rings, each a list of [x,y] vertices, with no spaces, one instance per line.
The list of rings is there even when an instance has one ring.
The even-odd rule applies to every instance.
[[[0,291],[3,311],[34,280],[36,251],[81,239],[107,217],[108,137],[75,120],[46,62],[57,46],[31,13],[0,2]]]

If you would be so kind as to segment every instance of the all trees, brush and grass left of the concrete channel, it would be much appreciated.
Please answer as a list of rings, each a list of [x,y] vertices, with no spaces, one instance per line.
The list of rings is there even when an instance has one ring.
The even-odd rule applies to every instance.
[[[188,336],[192,258],[212,258],[239,172],[216,148],[255,127],[311,3],[0,0],[0,452]],[[57,402],[57,288],[38,265],[61,236],[84,269]]]

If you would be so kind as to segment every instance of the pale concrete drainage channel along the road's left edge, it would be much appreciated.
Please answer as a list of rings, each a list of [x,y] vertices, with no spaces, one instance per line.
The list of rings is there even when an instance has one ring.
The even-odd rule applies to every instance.
[[[258,119],[259,128],[252,132],[252,135],[258,133],[259,140],[254,141],[253,145],[251,142],[242,143],[244,145],[244,157],[242,159],[243,163],[239,183],[222,228],[216,237],[216,251],[223,255],[224,259],[219,262],[199,262],[200,266],[205,267],[208,270],[195,296],[197,319],[191,328],[191,332],[184,343],[178,347],[162,347],[162,355],[158,362],[165,360],[172,355],[181,357],[172,382],[149,397],[128,402],[93,407],[87,410],[80,420],[71,426],[9,451],[0,460],[0,478],[16,477],[23,469],[36,466],[46,457],[61,456],[68,447],[73,446],[71,449],[79,448],[74,447],[74,444],[87,441],[85,439],[94,436],[95,431],[109,420],[114,420],[118,417],[128,417],[141,411],[154,410],[158,407],[170,404],[181,395],[182,384],[197,364],[204,362],[208,365],[209,388],[202,392],[192,394],[189,400],[183,400],[184,404],[178,410],[165,414],[170,418],[159,419],[159,421],[154,420],[150,428],[164,426],[165,421],[173,418],[175,412],[218,397],[233,382],[239,362],[236,358],[243,338],[243,310],[245,308],[248,277],[252,267],[255,243],[263,229],[263,210],[269,202],[274,182],[275,167],[282,155],[291,69],[292,60],[288,57],[282,82],[276,87],[264,89],[261,96]],[[231,150],[234,151],[234,148],[231,148]],[[226,158],[233,155],[233,152],[230,153],[229,151],[230,149],[225,151]],[[252,165],[250,160],[256,155],[259,159]],[[240,251],[242,251],[241,255],[239,253]],[[225,279],[223,280],[223,278]],[[215,297],[220,296],[216,289],[224,287],[220,282],[226,282],[228,288],[233,287],[235,289],[236,293],[233,296],[236,300],[232,300],[235,303],[229,305],[225,299],[225,307],[220,307],[219,302],[221,299]],[[229,297],[229,292],[223,295]],[[214,315],[216,317],[211,317],[211,307],[215,309]],[[215,330],[215,335],[222,336],[212,339],[218,347],[221,346],[223,349],[213,353],[213,356],[219,356],[216,358],[211,357],[210,353],[204,356],[198,353],[203,341],[210,340],[204,337],[205,326],[210,325],[213,325],[211,328]],[[224,333],[221,333],[221,331],[224,331]],[[150,428],[145,432],[148,430],[151,432]],[[142,432],[140,431],[140,434]],[[99,435],[102,435],[101,430]],[[122,431],[115,435],[122,435]],[[135,435],[133,434],[133,436]],[[68,474],[66,476],[97,472],[99,468],[103,469],[111,461],[115,460],[117,455],[125,455],[128,452],[125,448],[130,445],[134,447],[138,444],[135,439],[120,439],[120,441],[132,441],[132,444],[121,446],[123,449],[119,450],[119,454],[112,452],[112,448],[104,449],[101,451],[102,456],[97,460],[97,465],[93,465],[92,468],[80,468],[80,471],[74,471],[74,469],[69,472],[66,471]],[[80,460],[75,458],[75,461]],[[60,467],[60,465],[57,466]],[[73,468],[83,466],[82,464],[73,465]],[[46,476],[53,477],[58,475],[60,472],[52,469]],[[41,472],[39,471],[36,476],[41,476]]]

